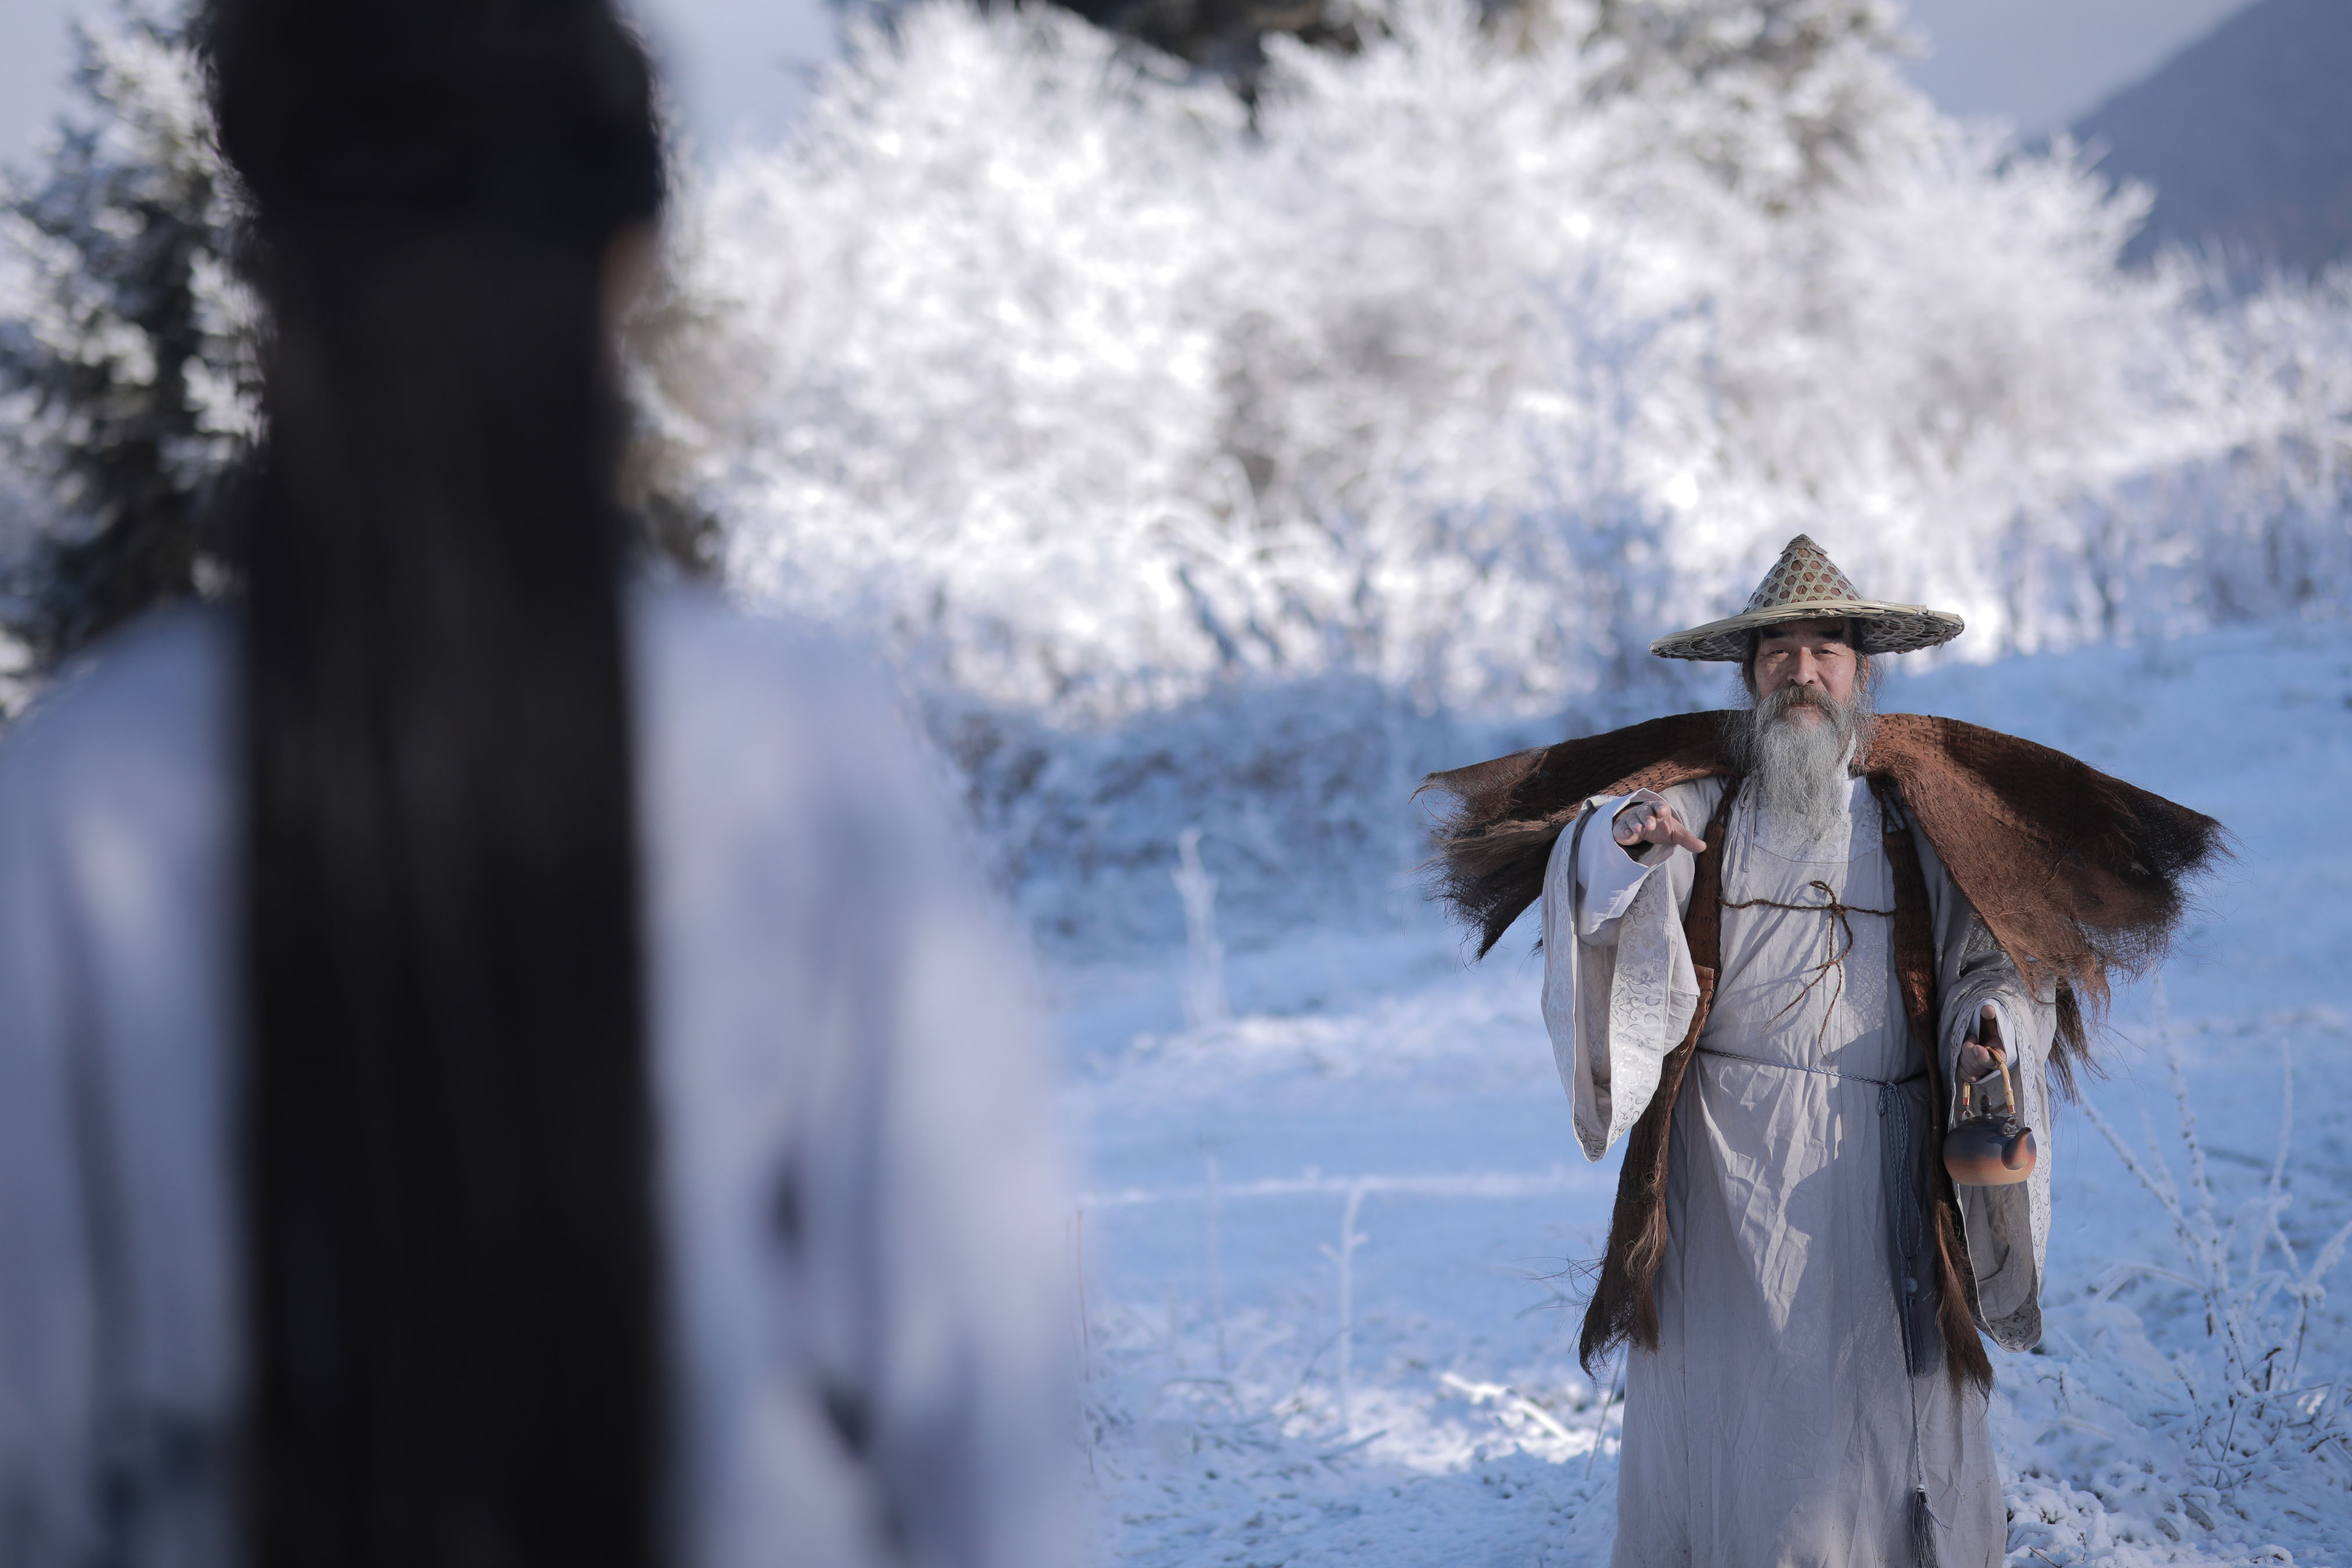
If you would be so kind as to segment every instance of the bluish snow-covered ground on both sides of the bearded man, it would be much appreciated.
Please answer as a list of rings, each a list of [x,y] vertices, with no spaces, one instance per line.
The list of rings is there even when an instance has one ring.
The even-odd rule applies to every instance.
[[[2352,628],[1945,668],[1886,708],[2067,748],[2237,832],[2161,987],[2117,997],[2089,1095],[2180,1225],[2084,1110],[2049,1128],[2049,1335],[1997,1359],[2011,1563],[2352,1561],[2352,1267],[2310,1281],[2352,1220]],[[1108,1561],[1606,1561],[1618,1410],[1573,1302],[1616,1168],[1573,1147],[1526,947],[1465,969],[1435,922],[1334,910],[1230,957],[1235,1016],[1195,1027],[1183,952],[1056,976]]]

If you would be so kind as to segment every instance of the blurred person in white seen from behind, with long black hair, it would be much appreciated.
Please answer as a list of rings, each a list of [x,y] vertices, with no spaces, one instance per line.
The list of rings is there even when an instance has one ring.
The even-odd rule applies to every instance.
[[[1035,1034],[877,691],[623,588],[595,0],[219,0],[245,602],[0,743],[0,1563],[1063,1561]]]

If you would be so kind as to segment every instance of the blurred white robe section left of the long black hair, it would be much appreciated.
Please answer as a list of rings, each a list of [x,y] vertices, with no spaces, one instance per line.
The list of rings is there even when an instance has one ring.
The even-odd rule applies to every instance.
[[[118,632],[0,738],[0,1561],[235,1561],[228,639]]]

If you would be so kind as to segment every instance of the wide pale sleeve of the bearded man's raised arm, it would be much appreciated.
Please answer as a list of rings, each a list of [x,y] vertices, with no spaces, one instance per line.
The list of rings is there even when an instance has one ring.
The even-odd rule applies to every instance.
[[[1642,795],[1668,799],[1691,820],[1703,788]],[[1552,844],[1543,877],[1543,1025],[1585,1159],[1606,1154],[1642,1119],[1658,1091],[1665,1053],[1689,1032],[1698,1009],[1698,973],[1682,938],[1691,853],[1653,851],[1658,858],[1651,865],[1632,865],[1630,884],[1606,860],[1602,875],[1585,879],[1588,849],[1630,863],[1609,835],[1583,832],[1595,820],[1606,823],[1628,799],[1637,797],[1585,802],[1583,816]],[[1606,889],[1611,900],[1597,919],[1583,907],[1583,893],[1592,889]]]

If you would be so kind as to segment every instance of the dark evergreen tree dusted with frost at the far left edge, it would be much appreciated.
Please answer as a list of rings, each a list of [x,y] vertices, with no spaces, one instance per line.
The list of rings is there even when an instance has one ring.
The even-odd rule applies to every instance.
[[[7,456],[42,512],[9,623],[40,658],[221,578],[216,527],[259,437],[256,310],[195,52],[136,14],[75,38],[78,101],[0,228]]]

